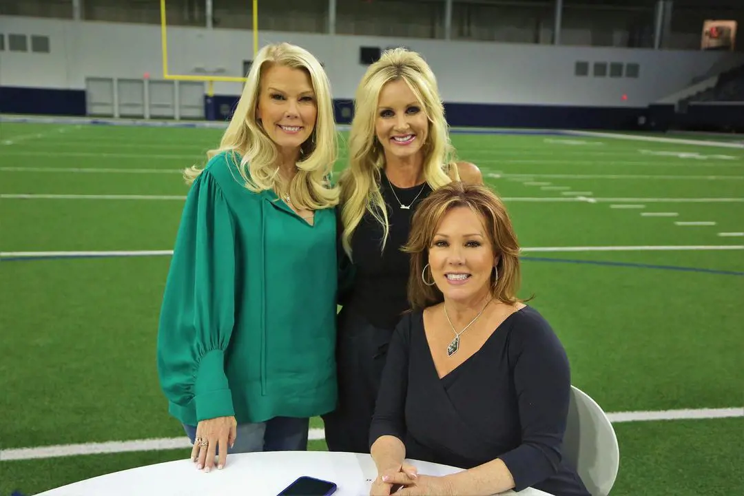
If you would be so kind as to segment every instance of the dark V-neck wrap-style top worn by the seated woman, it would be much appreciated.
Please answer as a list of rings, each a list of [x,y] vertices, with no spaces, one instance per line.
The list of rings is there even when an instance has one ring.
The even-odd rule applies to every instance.
[[[462,335],[461,339],[467,339]],[[550,324],[530,306],[441,379],[423,311],[398,324],[382,373],[370,444],[389,435],[415,460],[473,468],[501,459],[515,491],[589,496],[562,457],[571,373]]]

